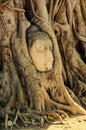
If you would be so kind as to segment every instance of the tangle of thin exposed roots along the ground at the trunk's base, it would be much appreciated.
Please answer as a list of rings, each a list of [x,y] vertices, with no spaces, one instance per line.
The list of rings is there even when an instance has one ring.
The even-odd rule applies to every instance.
[[[23,126],[27,128],[29,125],[39,125],[44,127],[44,124],[53,123],[55,121],[60,121],[61,124],[65,124],[64,117],[67,116],[62,110],[55,111],[36,111],[30,108],[27,108],[25,112],[22,112],[20,109],[17,110],[5,108],[2,110],[3,116],[5,117],[4,126],[6,129],[19,127],[22,122]],[[68,116],[67,116],[68,117]]]

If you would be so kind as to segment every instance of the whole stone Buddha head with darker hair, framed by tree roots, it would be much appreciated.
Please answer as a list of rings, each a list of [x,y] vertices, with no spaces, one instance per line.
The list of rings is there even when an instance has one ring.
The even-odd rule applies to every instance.
[[[47,34],[39,32],[30,37],[28,51],[36,70],[45,72],[52,69],[54,62],[53,46]]]

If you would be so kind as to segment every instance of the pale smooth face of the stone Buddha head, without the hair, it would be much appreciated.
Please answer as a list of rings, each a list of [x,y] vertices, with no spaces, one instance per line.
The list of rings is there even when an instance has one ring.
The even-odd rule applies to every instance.
[[[50,39],[47,39],[47,43],[43,39],[36,39],[29,47],[29,53],[38,71],[43,72],[52,69],[54,58]]]

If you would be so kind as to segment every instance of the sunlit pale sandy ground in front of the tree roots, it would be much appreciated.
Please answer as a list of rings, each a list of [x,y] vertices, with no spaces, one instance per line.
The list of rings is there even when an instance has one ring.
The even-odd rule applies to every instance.
[[[30,126],[27,129],[20,128],[13,130],[86,130],[86,116],[71,117],[65,121],[65,125],[56,122],[54,125],[46,125],[44,128],[38,126]]]

